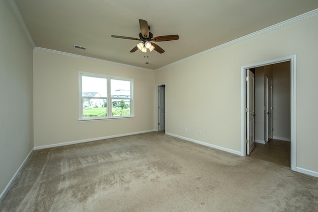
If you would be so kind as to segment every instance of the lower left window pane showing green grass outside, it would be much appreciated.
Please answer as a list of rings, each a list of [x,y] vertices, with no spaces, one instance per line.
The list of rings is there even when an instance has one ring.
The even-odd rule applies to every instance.
[[[107,99],[83,98],[83,118],[107,116]]]

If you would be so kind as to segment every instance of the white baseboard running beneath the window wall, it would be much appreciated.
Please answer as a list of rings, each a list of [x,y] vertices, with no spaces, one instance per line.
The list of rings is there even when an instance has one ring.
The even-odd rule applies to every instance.
[[[70,142],[49,144],[49,145],[43,145],[43,146],[35,146],[34,150],[44,149],[44,148],[52,148],[52,147],[57,147],[57,146],[65,146],[65,145],[83,143],[83,142],[88,142],[88,141],[98,141],[98,140],[104,140],[104,139],[112,139],[112,138],[123,137],[123,136],[131,136],[131,135],[142,134],[142,133],[150,133],[150,132],[154,132],[154,131],[155,131],[155,129],[147,130],[147,131],[134,132],[134,133],[126,133],[126,134],[114,135],[114,136],[105,136],[105,137],[100,137],[100,138],[85,139],[85,140],[79,140],[79,141],[70,141]]]

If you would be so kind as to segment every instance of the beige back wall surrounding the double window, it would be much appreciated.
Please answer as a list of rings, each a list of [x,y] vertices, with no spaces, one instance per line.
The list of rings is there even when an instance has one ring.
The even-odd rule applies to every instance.
[[[40,50],[33,57],[35,147],[155,129],[153,71]],[[135,118],[79,122],[79,71],[134,78]]]

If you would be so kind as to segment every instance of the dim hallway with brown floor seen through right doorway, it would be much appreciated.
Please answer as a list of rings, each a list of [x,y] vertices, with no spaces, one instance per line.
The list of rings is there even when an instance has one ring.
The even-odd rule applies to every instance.
[[[256,67],[253,71],[258,116],[255,118],[255,148],[247,153],[290,167],[290,61]]]

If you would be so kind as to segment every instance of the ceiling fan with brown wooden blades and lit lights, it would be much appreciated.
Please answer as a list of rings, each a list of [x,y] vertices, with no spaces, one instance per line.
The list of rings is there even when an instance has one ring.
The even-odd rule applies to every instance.
[[[135,46],[130,52],[136,52],[138,49],[142,52],[146,53],[147,50],[153,51],[156,50],[160,54],[164,52],[161,47],[159,47],[157,44],[152,42],[159,42],[159,41],[173,41],[178,40],[178,35],[163,35],[154,37],[153,33],[149,32],[150,26],[148,26],[148,22],[142,19],[139,19],[139,25],[140,25],[140,33],[139,38],[132,38],[132,37],[125,37],[125,36],[118,36],[118,35],[112,35],[113,38],[122,38],[122,39],[129,39],[129,40],[136,40],[136,41],[142,41],[137,46]]]

